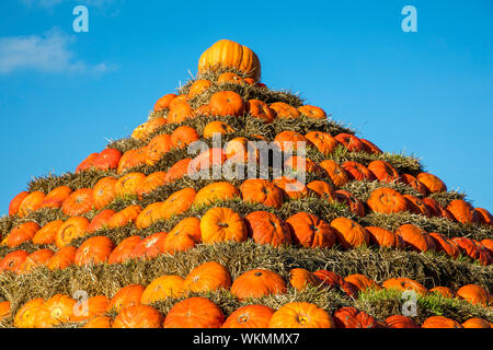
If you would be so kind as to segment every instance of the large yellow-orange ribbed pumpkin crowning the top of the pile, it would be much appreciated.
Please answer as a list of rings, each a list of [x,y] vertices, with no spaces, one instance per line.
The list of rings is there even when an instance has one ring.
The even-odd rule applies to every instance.
[[[205,50],[198,59],[198,73],[215,66],[233,67],[246,73],[249,78],[257,81],[261,79],[259,57],[246,46],[232,40],[219,40]]]

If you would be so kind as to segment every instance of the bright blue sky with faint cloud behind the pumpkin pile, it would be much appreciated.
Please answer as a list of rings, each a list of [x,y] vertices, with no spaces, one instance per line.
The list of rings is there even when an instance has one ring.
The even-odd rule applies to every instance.
[[[145,4],[142,4],[145,3]],[[72,9],[89,9],[89,33]],[[404,5],[417,33],[404,33]],[[386,151],[493,210],[493,2],[11,0],[0,4],[0,213],[31,176],[128,136],[220,38]]]

